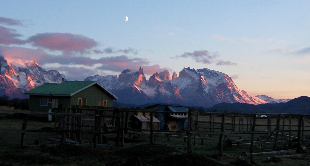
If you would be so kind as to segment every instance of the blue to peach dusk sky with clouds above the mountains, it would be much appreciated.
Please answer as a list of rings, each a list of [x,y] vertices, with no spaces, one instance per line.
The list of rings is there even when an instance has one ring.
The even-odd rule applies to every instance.
[[[208,68],[253,95],[310,96],[308,0],[0,3],[0,55],[70,80]]]

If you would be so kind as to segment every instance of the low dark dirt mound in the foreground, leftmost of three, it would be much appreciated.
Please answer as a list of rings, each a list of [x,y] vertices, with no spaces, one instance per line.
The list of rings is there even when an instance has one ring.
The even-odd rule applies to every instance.
[[[78,155],[99,156],[104,153],[103,150],[100,150],[100,148],[94,149],[91,146],[72,145],[72,144],[52,146],[43,149],[42,152],[62,157],[78,156]]]

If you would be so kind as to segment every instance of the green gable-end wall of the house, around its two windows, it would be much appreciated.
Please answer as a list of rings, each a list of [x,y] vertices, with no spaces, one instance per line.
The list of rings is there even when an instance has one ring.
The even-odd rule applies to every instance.
[[[96,84],[71,96],[70,104],[78,105],[78,98],[86,98],[86,105],[98,106],[99,100],[106,100],[108,107],[113,106],[113,98]]]

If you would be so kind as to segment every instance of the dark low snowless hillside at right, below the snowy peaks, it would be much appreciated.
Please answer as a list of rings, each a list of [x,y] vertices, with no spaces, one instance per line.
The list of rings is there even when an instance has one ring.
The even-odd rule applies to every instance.
[[[291,113],[291,114],[303,114],[303,110],[306,110],[306,114],[310,114],[310,97],[300,96],[292,99],[286,103],[274,103],[274,104],[246,104],[246,103],[219,103],[213,107],[207,108],[207,110],[217,110],[218,112],[228,111],[236,113]]]

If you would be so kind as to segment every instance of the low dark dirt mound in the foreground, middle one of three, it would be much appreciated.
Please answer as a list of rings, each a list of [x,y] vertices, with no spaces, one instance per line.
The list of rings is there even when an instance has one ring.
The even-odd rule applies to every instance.
[[[160,144],[142,144],[117,151],[117,153],[120,153],[125,156],[139,156],[139,157],[163,155],[173,152],[179,152],[179,151],[173,147]]]

